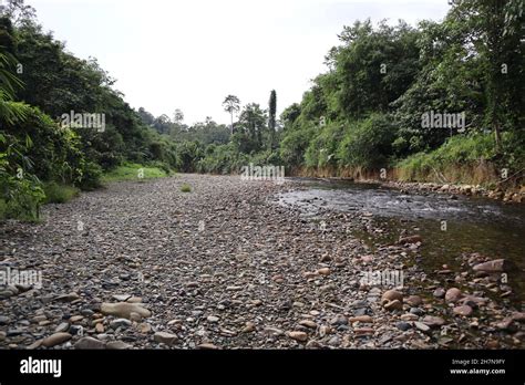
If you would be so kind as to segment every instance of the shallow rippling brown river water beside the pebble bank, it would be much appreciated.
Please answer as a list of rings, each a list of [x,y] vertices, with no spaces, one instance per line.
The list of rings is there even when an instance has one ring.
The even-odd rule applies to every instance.
[[[370,246],[395,242],[402,229],[410,229],[409,235],[419,233],[423,238],[420,263],[425,271],[440,270],[443,264],[459,269],[459,257],[474,252],[513,261],[518,270],[508,275],[508,284],[515,291],[514,301],[525,302],[525,205],[433,192],[405,194],[344,180],[292,180],[305,189],[281,194],[281,204],[298,207],[305,216],[327,209],[368,212],[375,225],[387,229],[382,239],[354,233]]]

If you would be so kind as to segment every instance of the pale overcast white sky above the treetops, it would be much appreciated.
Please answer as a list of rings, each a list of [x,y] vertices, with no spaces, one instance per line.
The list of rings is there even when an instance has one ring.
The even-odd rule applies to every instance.
[[[132,107],[228,123],[222,103],[300,102],[343,25],[442,20],[447,0],[25,0],[76,56],[96,58]]]

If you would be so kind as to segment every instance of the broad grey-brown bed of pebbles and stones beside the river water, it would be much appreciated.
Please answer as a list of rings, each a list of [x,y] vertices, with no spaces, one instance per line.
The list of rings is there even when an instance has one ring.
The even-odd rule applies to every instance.
[[[525,347],[508,263],[469,254],[430,277],[415,229],[382,244],[370,212],[279,202],[301,188],[182,175],[1,223],[0,270],[42,281],[0,285],[0,348]]]

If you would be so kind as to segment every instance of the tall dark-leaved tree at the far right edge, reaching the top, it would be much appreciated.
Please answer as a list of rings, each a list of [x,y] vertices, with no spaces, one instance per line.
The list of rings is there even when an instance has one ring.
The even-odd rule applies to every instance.
[[[522,0],[464,0],[457,2],[445,21],[457,31],[463,45],[470,46],[478,58],[483,69],[485,121],[493,128],[498,149],[502,131],[523,124],[524,8]]]

